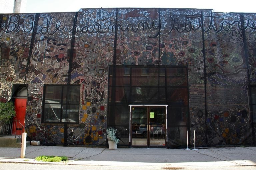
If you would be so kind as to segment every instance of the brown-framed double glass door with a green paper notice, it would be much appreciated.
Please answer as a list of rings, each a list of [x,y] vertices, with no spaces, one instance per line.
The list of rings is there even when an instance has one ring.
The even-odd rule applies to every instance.
[[[166,107],[131,107],[132,147],[166,147]]]

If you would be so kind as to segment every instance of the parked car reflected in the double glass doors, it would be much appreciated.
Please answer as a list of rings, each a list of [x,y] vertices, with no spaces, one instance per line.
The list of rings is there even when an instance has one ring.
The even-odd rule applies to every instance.
[[[137,131],[133,131],[136,134],[142,134],[147,137],[147,124],[141,124]],[[150,134],[162,135],[165,132],[165,126],[160,123],[150,123]]]

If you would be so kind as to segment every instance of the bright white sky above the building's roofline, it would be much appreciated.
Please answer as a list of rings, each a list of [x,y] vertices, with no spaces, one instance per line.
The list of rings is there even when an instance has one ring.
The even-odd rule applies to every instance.
[[[81,8],[197,8],[255,13],[254,0],[27,0],[26,13],[77,12]],[[253,3],[253,4],[252,4]]]

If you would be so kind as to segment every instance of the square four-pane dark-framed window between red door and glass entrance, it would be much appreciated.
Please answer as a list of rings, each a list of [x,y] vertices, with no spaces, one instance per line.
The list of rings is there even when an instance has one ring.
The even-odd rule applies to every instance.
[[[45,85],[43,122],[79,122],[79,85]]]

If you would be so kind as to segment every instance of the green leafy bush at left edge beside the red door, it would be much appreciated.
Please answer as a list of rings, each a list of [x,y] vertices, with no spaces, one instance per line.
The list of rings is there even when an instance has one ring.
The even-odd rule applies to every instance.
[[[10,120],[15,114],[15,107],[12,102],[0,102],[0,121]]]

